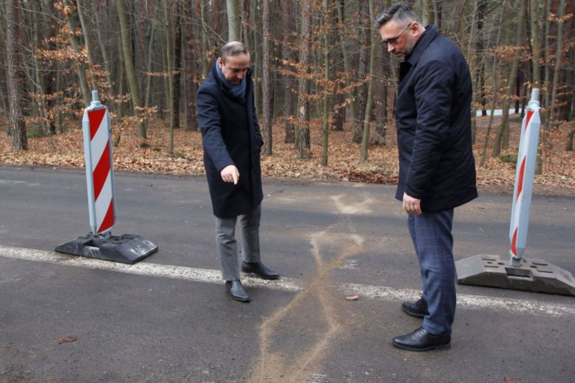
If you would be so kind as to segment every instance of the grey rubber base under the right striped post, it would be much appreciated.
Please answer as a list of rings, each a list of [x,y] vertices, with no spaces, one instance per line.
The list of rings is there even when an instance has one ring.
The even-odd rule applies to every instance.
[[[504,289],[575,296],[575,279],[567,270],[544,260],[523,258],[509,265],[499,256],[480,254],[455,262],[457,282]]]

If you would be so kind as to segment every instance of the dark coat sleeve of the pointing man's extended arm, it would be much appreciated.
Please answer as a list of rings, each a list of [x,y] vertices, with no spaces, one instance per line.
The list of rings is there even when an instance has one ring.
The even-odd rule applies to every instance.
[[[228,165],[234,164],[221,135],[220,110],[214,96],[203,87],[198,89],[196,104],[204,150],[219,172]]]

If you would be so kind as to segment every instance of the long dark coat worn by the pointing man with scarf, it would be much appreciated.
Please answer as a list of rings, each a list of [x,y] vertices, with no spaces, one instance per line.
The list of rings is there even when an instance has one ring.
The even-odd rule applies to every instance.
[[[198,88],[198,124],[213,213],[218,218],[232,218],[262,202],[263,140],[255,113],[251,69],[246,74],[245,96],[236,98],[224,87],[216,65]],[[221,169],[232,164],[240,173],[237,185],[224,182],[220,175]]]

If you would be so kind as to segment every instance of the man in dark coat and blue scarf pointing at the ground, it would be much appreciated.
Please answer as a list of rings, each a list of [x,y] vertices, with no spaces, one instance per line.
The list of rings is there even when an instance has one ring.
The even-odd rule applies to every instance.
[[[248,302],[237,264],[235,228],[240,216],[242,233],[241,270],[265,279],[279,274],[260,261],[259,222],[263,200],[260,152],[263,144],[254,107],[250,52],[231,41],[198,88],[198,123],[204,144],[204,167],[208,177],[213,213],[216,216],[216,247],[229,295]]]

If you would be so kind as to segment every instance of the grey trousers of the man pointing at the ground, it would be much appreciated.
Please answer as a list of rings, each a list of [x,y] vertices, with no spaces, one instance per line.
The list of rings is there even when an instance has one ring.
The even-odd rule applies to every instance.
[[[240,215],[241,223],[241,260],[259,262],[259,220],[262,216],[262,205]],[[216,248],[220,258],[221,275],[226,281],[240,279],[237,262],[236,221],[233,218],[216,217]]]

